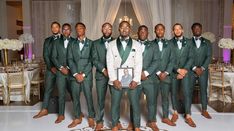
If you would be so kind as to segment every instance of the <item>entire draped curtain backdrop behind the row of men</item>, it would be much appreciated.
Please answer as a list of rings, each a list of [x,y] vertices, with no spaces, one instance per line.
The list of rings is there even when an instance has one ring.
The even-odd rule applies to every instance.
[[[149,39],[155,38],[154,26],[158,23],[166,26],[165,37],[170,39],[172,25],[176,22],[184,26],[184,35],[187,37],[192,36],[190,27],[194,22],[202,23],[203,32],[213,32],[217,40],[222,37],[223,0],[128,0],[127,2],[129,1],[139,23],[149,27]],[[102,35],[101,25],[104,22],[114,23],[120,3],[121,0],[33,0],[34,54],[42,56],[43,41],[51,35],[52,21],[72,24],[73,36],[75,36],[75,23],[82,21],[87,26],[86,36],[93,40],[99,38]],[[113,32],[118,30],[115,29]],[[216,52],[214,53],[216,56],[217,44],[213,44],[213,51]]]

